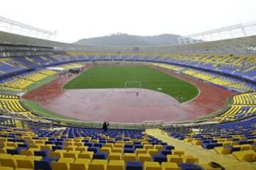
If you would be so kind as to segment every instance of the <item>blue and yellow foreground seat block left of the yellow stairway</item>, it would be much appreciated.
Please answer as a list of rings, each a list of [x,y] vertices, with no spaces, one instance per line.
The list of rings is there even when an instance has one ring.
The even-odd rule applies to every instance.
[[[0,147],[1,168],[203,169],[198,158],[186,155],[141,130],[18,130],[2,127]]]

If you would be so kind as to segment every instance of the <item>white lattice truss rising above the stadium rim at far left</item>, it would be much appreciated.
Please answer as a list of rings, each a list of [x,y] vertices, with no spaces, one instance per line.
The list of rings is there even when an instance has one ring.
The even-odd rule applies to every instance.
[[[19,29],[20,33],[25,32],[25,30],[27,30],[29,35],[32,35],[32,34],[36,34],[38,36],[41,35],[46,40],[57,36],[56,31],[53,32],[53,31],[49,31],[49,30],[43,30],[41,28],[29,26],[28,24],[19,23],[17,21],[11,20],[9,18],[4,18],[4,17],[0,16],[0,27],[1,26],[4,27],[3,25],[9,26],[9,32],[11,32],[13,27],[16,27]]]

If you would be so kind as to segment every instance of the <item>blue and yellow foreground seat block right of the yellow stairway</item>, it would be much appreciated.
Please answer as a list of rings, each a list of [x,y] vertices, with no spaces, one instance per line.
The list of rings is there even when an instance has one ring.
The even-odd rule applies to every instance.
[[[231,154],[236,159],[256,162],[256,117],[233,123],[223,123],[205,128],[201,132],[188,134],[169,133],[171,137],[201,145],[204,149],[214,149],[218,154]],[[168,132],[168,129],[166,129]]]

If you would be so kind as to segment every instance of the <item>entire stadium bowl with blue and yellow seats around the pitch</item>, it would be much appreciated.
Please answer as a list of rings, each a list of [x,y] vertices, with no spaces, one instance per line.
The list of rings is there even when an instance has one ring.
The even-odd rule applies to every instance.
[[[256,23],[174,45],[0,28],[0,170],[256,169]]]

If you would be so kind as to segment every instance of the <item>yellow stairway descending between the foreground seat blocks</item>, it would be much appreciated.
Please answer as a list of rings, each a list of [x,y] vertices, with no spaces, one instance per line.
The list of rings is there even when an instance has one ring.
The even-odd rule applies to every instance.
[[[174,146],[178,150],[183,150],[188,155],[193,155],[199,158],[199,164],[207,166],[207,162],[217,162],[223,166],[226,170],[252,170],[256,169],[256,164],[242,162],[235,159],[232,155],[217,154],[214,150],[206,150],[201,146],[191,145],[188,142],[183,142],[175,138],[169,137],[166,132],[161,132],[159,129],[148,129],[146,133],[152,135],[163,142],[167,142],[168,145]]]

